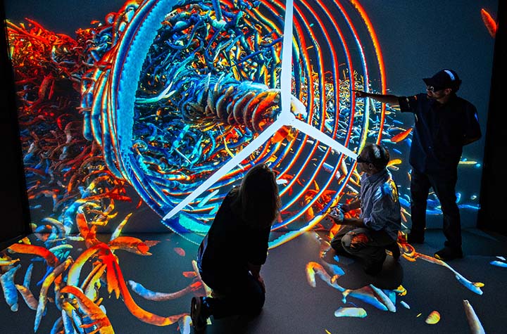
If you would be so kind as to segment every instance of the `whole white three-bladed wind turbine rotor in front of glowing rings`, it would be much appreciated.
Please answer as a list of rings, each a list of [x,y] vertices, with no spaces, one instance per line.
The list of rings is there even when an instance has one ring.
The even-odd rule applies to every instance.
[[[342,144],[334,141],[330,136],[324,134],[320,130],[312,127],[310,124],[298,120],[293,113],[290,112],[291,103],[291,91],[292,91],[292,13],[294,12],[294,1],[287,0],[285,4],[285,18],[284,18],[284,39],[282,44],[282,74],[280,78],[280,95],[282,101],[282,110],[278,114],[277,120],[270,124],[264,131],[259,134],[256,139],[253,139],[243,150],[241,150],[234,158],[229,160],[225,165],[220,167],[213,175],[211,175],[206,181],[204,181],[199,187],[190,193],[184,200],[176,205],[173,210],[170,210],[168,214],[165,214],[163,220],[170,219],[177,212],[180,212],[184,207],[189,205],[192,200],[196,199],[204,193],[209,187],[215,184],[216,181],[220,180],[227,172],[229,172],[234,166],[239,165],[244,159],[248,158],[253,152],[255,152],[263,143],[273,136],[278,129],[284,126],[294,127],[299,131],[312,136],[321,143],[325,143],[334,150],[343,153],[344,155],[353,158],[357,158],[357,154],[353,153],[349,148],[346,148]],[[295,99],[296,103],[298,102]],[[301,103],[301,102],[299,102]]]

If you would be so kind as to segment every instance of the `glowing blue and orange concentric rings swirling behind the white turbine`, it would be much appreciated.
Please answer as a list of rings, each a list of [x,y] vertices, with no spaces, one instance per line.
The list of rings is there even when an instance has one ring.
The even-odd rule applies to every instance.
[[[83,109],[91,110],[84,134],[101,145],[111,172],[162,217],[275,119],[283,15],[284,1],[218,7],[159,0],[127,3],[111,20],[113,43],[82,89]],[[385,91],[380,46],[357,1],[294,2],[292,72],[299,119],[355,152],[368,138],[380,141],[384,109],[372,113],[369,101],[353,98],[352,89],[373,83]],[[301,103],[306,110],[296,110]],[[163,223],[205,233],[225,193],[261,162],[280,182],[282,214],[273,230],[287,232],[272,246],[312,229],[330,205],[357,190],[353,159],[282,128]]]

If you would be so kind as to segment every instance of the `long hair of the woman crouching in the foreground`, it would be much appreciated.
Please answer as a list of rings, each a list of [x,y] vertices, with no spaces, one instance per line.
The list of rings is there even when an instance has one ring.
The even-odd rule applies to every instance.
[[[264,164],[252,167],[244,176],[232,206],[247,224],[259,228],[271,226],[282,206],[275,173]]]

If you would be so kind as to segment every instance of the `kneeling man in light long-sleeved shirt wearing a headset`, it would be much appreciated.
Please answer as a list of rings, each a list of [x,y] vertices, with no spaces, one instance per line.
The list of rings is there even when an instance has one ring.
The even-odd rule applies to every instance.
[[[357,158],[361,174],[358,200],[332,210],[328,217],[334,223],[345,225],[331,240],[338,253],[345,251],[362,260],[365,272],[375,275],[382,271],[385,250],[398,259],[396,240],[401,228],[401,207],[398,189],[387,170],[389,151],[376,144],[367,144]],[[343,212],[361,208],[358,218],[344,217]],[[340,212],[341,210],[341,212]]]

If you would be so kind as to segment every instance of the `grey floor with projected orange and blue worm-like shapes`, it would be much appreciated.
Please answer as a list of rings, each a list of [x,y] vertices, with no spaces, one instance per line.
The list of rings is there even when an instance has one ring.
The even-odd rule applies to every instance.
[[[270,250],[261,272],[267,285],[261,315],[211,319],[206,333],[500,330],[507,315],[495,311],[495,301],[507,297],[507,262],[487,252],[507,255],[506,238],[464,231],[465,258],[446,265],[427,256],[439,248],[442,232],[430,230],[427,237],[415,250],[401,248],[399,262],[388,256],[372,277],[354,259],[326,252],[327,232],[303,233]],[[5,333],[193,333],[190,300],[206,294],[194,267],[197,246],[175,233],[98,238],[102,243],[92,247],[69,240],[68,247],[51,250],[56,259],[35,235],[31,245],[3,253]],[[61,253],[73,260],[59,261]],[[67,288],[61,287],[65,278],[72,281]]]

